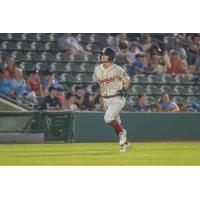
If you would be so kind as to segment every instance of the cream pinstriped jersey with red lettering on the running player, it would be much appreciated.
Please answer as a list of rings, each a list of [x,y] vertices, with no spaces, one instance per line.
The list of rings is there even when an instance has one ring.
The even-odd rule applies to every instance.
[[[107,69],[100,64],[94,70],[93,81],[99,83],[102,96],[115,95],[118,90],[122,89],[122,82],[125,80],[130,80],[130,77],[116,64],[112,64]]]

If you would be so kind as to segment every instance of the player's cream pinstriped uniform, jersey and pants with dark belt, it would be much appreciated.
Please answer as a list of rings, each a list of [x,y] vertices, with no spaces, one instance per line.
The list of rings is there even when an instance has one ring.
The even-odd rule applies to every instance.
[[[130,77],[116,64],[112,64],[107,69],[103,67],[103,64],[100,64],[94,70],[93,81],[100,85],[100,93],[106,111],[104,116],[106,123],[116,119],[121,124],[119,112],[124,107],[126,99],[116,96],[116,94],[118,90],[122,89],[124,80],[130,80]]]

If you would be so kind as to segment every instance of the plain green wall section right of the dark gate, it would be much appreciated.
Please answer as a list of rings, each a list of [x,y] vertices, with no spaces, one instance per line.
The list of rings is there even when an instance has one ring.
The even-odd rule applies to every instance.
[[[200,113],[121,113],[130,141],[200,140]],[[74,142],[116,142],[104,113],[77,112]]]

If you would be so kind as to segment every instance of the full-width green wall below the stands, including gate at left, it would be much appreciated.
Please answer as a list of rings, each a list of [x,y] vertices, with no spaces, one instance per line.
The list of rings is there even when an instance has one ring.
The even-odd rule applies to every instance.
[[[121,119],[130,141],[200,140],[200,113],[124,112]],[[46,141],[118,142],[102,112],[1,111],[0,134],[10,133],[43,133]]]

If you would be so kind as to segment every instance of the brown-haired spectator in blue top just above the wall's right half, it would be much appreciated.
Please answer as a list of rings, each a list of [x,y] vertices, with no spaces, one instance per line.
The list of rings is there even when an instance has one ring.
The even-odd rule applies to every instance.
[[[179,112],[178,105],[175,102],[170,101],[167,93],[161,95],[159,103],[159,110],[161,112]]]

